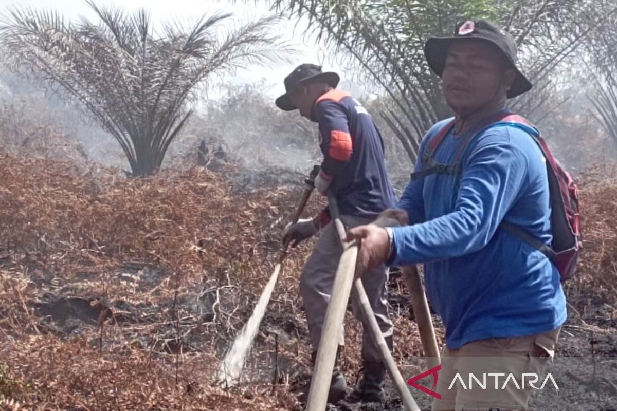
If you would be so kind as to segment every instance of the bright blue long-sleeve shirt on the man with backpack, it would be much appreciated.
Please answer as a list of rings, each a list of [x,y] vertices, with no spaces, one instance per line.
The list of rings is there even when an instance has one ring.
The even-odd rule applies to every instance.
[[[450,120],[429,130],[416,171],[424,168],[428,141]],[[465,137],[450,131],[434,159],[453,163]],[[550,244],[542,152],[526,131],[497,125],[471,139],[460,164],[460,177],[433,174],[407,185],[397,206],[410,226],[393,230],[392,264],[424,262],[428,298],[444,321],[449,349],[557,328],[566,319],[557,268],[499,227],[505,220]]]

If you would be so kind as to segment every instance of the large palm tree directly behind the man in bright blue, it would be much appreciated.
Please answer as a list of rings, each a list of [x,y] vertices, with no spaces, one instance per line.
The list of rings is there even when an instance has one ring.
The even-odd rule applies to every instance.
[[[450,36],[461,19],[488,18],[515,37],[534,91],[511,106],[538,120],[550,107],[551,74],[573,55],[595,22],[589,0],[269,0],[290,18],[307,18],[308,31],[342,51],[369,84],[386,93],[381,116],[415,162],[424,132],[449,115],[441,81],[424,62],[429,36]],[[615,7],[608,10],[615,13]],[[581,18],[584,16],[584,18]]]

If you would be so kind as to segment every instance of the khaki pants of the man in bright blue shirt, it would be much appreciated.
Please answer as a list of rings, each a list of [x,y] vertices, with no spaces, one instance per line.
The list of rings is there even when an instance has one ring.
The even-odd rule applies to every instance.
[[[526,410],[533,389],[544,382],[544,368],[555,354],[559,331],[444,348],[435,388],[441,400],[433,401],[433,410]],[[549,382],[546,389],[552,388]]]

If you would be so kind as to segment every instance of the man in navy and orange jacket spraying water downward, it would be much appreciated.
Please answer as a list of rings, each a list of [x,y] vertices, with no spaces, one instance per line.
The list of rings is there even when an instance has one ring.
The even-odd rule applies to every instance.
[[[387,176],[381,134],[362,104],[349,93],[336,89],[338,82],[336,73],[322,72],[317,65],[302,64],[285,78],[286,93],[276,99],[276,105],[286,111],[299,110],[300,115],[318,124],[323,161],[320,174],[315,179],[315,188],[323,195],[333,193],[342,220],[348,227],[355,227],[368,224],[384,210],[394,207],[396,197]],[[336,227],[330,222],[327,207],[315,218],[288,227],[283,237],[283,240],[292,240],[292,246],[295,246],[317,234],[320,229],[323,230],[317,245],[300,275],[300,293],[313,344],[313,361],[334,275],[341,259],[341,240]],[[387,309],[387,277],[387,267],[381,263],[373,267],[371,275],[363,279],[363,283],[379,328],[392,349],[393,327]],[[354,397],[365,402],[379,402],[385,368],[355,298],[352,298],[352,308],[355,316],[363,322],[364,331],[364,375],[354,390]],[[339,344],[342,346],[343,342],[341,332]],[[337,402],[346,394],[347,383],[339,368],[338,358],[339,352],[329,402]]]

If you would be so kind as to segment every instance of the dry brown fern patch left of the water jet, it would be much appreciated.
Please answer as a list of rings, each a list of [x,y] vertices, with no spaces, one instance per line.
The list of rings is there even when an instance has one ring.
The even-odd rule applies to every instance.
[[[242,401],[223,401],[222,392],[204,383],[217,368],[217,346],[225,348],[241,327],[267,274],[267,258],[278,248],[270,224],[293,205],[275,206],[272,199],[291,193],[257,192],[240,202],[229,184],[204,169],[95,181],[67,163],[13,157],[0,158],[0,177],[0,357],[12,378],[29,387],[19,394],[26,404],[241,407]],[[287,272],[301,263],[300,256],[291,258]],[[139,268],[135,282],[122,275],[127,264]],[[293,283],[283,278],[280,293]],[[93,349],[96,322],[78,337],[41,324],[32,307],[44,291],[82,296],[99,307],[99,324],[107,323],[101,353]],[[209,304],[213,317],[191,307],[203,295],[217,298]],[[117,309],[119,302],[132,312]]]

